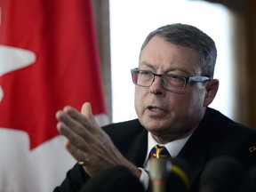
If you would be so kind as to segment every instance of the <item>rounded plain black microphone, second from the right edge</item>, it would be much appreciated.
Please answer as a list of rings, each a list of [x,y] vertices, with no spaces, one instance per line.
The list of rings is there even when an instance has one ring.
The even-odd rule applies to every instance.
[[[238,192],[244,166],[231,156],[220,156],[205,165],[198,192]]]

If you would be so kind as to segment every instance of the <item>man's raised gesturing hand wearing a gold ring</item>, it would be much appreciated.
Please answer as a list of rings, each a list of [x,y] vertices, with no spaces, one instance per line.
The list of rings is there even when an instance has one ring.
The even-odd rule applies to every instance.
[[[124,165],[140,177],[140,170],[122,156],[96,123],[90,103],[84,103],[81,113],[76,108],[65,107],[56,113],[56,118],[58,131],[68,139],[68,152],[78,162],[84,162],[84,171],[91,177],[115,165]]]

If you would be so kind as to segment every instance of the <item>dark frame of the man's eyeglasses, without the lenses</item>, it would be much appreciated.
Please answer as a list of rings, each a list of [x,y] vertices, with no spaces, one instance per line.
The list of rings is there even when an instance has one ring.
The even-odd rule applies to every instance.
[[[140,72],[147,72],[147,73],[153,75],[151,84],[145,86],[145,85],[135,83],[135,81],[133,79],[133,73],[140,73]],[[167,88],[164,87],[164,90],[166,90],[167,92],[183,92],[185,90],[186,85],[188,84],[188,82],[204,83],[206,81],[211,81],[212,80],[209,76],[178,76],[178,75],[172,75],[172,74],[156,74],[156,73],[153,73],[152,71],[149,71],[149,70],[140,70],[139,68],[132,68],[131,69],[131,74],[132,74],[133,84],[141,86],[141,87],[150,87],[154,83],[154,81],[156,79],[156,76],[159,76],[161,78],[161,84],[162,84],[163,87],[164,87],[164,80],[163,80],[162,76],[172,76],[172,77],[178,77],[178,78],[185,79],[185,83],[184,83],[184,86],[182,87],[182,89],[180,89],[180,90],[170,90],[170,89],[167,89]]]

